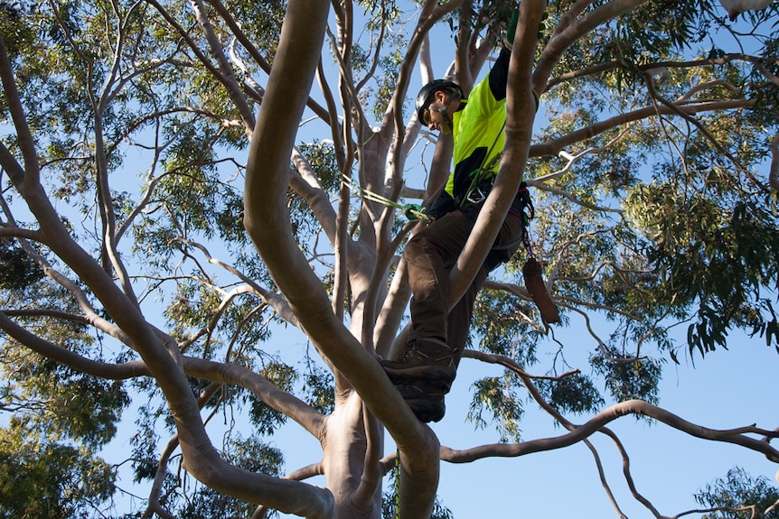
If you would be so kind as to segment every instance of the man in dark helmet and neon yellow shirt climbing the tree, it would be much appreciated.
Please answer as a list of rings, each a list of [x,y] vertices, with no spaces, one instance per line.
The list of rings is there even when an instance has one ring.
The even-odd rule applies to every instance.
[[[453,134],[455,169],[440,197],[424,209],[432,221],[418,229],[406,246],[413,293],[409,339],[397,360],[382,360],[381,365],[423,422],[443,418],[444,395],[463,355],[476,294],[487,274],[508,261],[521,243],[522,209],[515,200],[474,282],[449,311],[449,270],[474,227],[500,162],[510,59],[509,43],[467,98],[456,83],[445,79],[431,81],[417,97],[420,122],[430,130]]]

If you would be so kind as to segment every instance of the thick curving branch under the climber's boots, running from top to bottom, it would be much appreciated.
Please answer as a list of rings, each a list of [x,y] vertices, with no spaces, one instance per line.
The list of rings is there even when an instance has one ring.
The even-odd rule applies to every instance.
[[[319,278],[292,239],[286,209],[288,160],[324,40],[327,5],[289,3],[267,94],[249,147],[245,192],[246,227],[268,271],[315,346],[349,379],[401,451],[408,488],[404,517],[425,517],[432,508],[438,475],[438,445],[394,387],[378,362],[333,315]]]

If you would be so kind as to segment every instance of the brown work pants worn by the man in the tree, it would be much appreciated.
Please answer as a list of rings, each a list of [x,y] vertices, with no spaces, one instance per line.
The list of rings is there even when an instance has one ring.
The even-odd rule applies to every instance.
[[[493,251],[476,273],[474,282],[450,312],[449,270],[465,246],[474,227],[476,208],[457,209],[419,229],[405,250],[410,302],[409,339],[436,337],[446,340],[459,363],[468,339],[476,295],[491,268],[508,261],[521,244],[521,219],[509,213],[495,240]]]

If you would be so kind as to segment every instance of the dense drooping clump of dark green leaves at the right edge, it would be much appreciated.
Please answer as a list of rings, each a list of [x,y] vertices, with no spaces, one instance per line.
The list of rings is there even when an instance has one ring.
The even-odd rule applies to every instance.
[[[646,255],[661,276],[658,296],[677,308],[697,306],[690,352],[727,347],[728,329],[775,337],[774,306],[763,292],[779,286],[779,221],[760,199],[728,209],[727,199],[682,195],[666,183],[634,190],[627,205],[651,239]]]

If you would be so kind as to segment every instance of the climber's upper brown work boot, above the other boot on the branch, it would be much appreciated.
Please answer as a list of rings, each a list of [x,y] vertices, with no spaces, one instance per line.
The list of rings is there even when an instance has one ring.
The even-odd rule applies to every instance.
[[[412,339],[398,360],[382,360],[380,364],[396,385],[423,378],[446,381],[449,385],[455,380],[452,349],[439,338]]]

